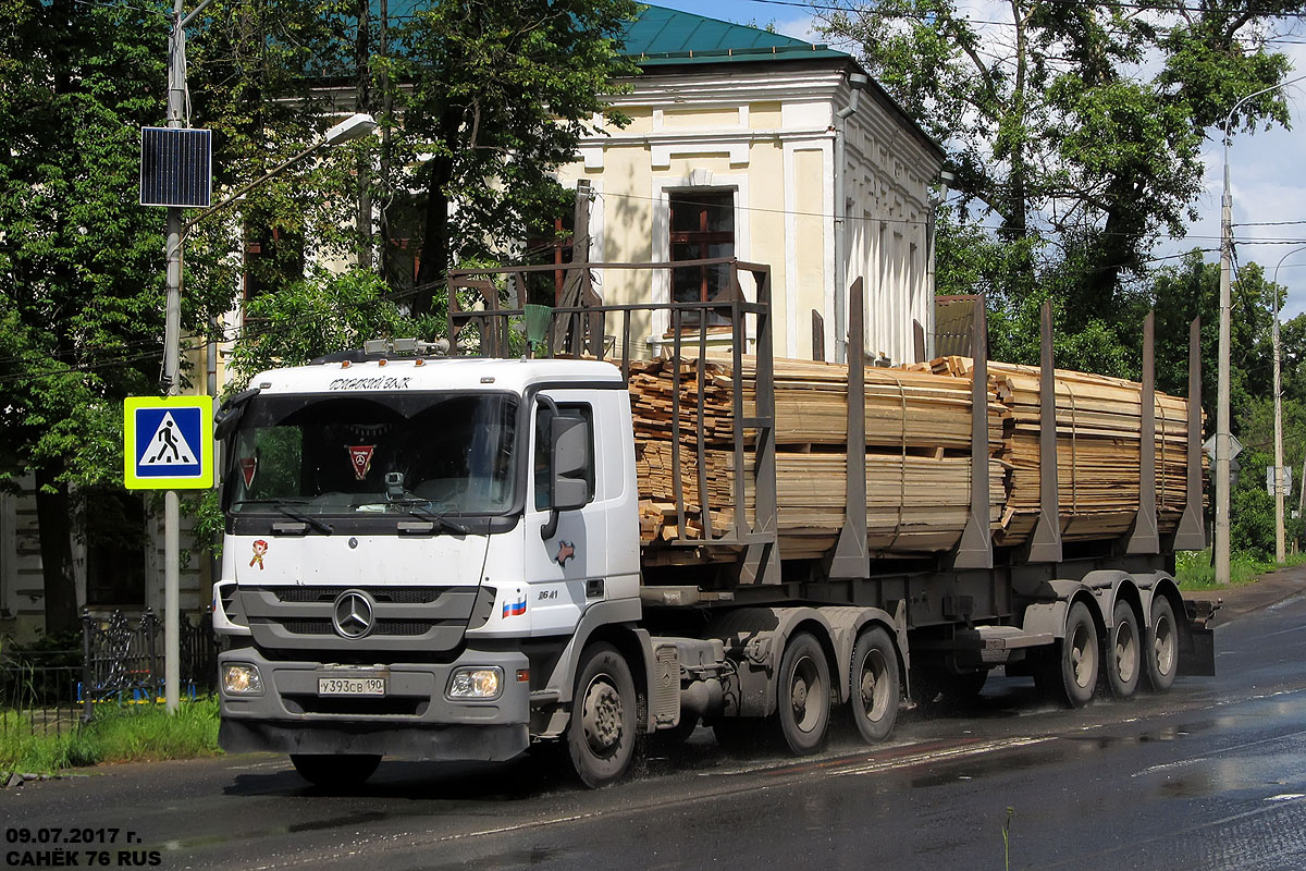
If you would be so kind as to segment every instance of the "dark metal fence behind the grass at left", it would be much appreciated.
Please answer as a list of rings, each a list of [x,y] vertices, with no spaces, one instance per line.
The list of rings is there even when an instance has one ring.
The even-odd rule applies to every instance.
[[[0,731],[63,733],[103,704],[153,703],[163,696],[163,622],[151,610],[128,618],[82,614],[81,650],[22,650],[0,657]],[[183,697],[212,692],[218,644],[213,619],[182,616]]]

